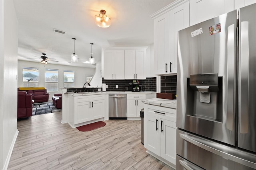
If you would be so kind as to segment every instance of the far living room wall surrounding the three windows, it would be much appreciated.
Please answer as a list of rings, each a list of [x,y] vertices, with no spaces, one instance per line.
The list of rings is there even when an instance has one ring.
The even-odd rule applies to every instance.
[[[75,71],[75,87],[82,87],[86,82],[86,76],[93,75],[95,73],[96,68],[85,68],[85,67],[76,67],[76,66],[66,66],[60,64],[41,64],[40,61],[38,62],[30,62],[30,61],[18,61],[18,87],[22,87],[22,66],[26,67],[36,67],[39,68],[39,87],[45,87],[45,69],[52,68],[58,69],[58,79],[59,87],[63,87],[63,70],[74,70]],[[61,90],[58,89],[58,92],[48,92],[49,100],[52,100],[52,96],[55,93],[61,93]]]

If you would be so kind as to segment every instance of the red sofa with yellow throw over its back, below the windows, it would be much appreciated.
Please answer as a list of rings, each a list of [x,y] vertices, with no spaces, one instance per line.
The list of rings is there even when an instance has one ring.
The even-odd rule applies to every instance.
[[[49,93],[47,93],[44,87],[20,87],[18,88],[18,91],[19,90],[26,91],[27,94],[32,94],[34,103],[48,102],[49,100]]]

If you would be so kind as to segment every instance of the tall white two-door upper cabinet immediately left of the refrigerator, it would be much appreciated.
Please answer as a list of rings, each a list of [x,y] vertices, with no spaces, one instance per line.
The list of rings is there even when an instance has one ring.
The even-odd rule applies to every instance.
[[[154,74],[176,74],[178,31],[189,26],[189,1],[154,18]]]

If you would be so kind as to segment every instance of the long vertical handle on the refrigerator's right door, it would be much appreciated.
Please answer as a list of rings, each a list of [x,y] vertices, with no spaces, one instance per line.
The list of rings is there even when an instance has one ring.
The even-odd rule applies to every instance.
[[[240,133],[248,133],[248,92],[249,92],[249,22],[241,22],[240,43],[240,80],[238,114],[240,117]]]

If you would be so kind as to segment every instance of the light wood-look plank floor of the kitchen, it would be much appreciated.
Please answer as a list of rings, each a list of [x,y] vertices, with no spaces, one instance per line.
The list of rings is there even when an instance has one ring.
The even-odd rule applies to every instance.
[[[146,153],[138,120],[104,121],[89,132],[60,121],[61,112],[18,120],[8,170],[173,170]]]

